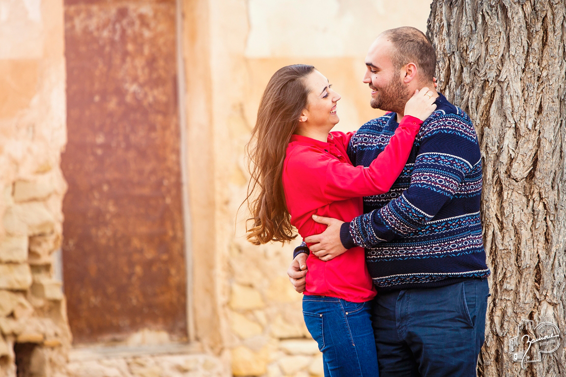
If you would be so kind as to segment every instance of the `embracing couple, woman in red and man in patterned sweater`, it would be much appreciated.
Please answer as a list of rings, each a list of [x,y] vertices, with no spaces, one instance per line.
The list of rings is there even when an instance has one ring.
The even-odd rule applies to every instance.
[[[288,274],[324,375],[475,376],[487,308],[482,160],[468,115],[435,90],[436,54],[411,27],[366,57],[370,105],[355,133],[312,66],[278,70],[252,131],[254,244],[289,241]]]

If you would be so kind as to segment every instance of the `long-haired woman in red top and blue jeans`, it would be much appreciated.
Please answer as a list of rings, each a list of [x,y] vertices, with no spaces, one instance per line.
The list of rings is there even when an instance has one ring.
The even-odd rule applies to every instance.
[[[346,154],[351,133],[330,132],[339,121],[340,95],[314,67],[283,67],[269,80],[248,151],[253,167],[247,238],[259,245],[305,237],[324,225],[312,215],[350,221],[362,214],[362,197],[391,188],[409,157],[422,120],[436,108],[427,88],[415,92],[389,145],[370,167],[354,167]],[[416,118],[415,118],[416,117]],[[253,199],[252,199],[253,197]],[[363,248],[329,261],[313,254],[303,296],[308,331],[323,353],[325,376],[378,376],[370,320],[375,296]]]

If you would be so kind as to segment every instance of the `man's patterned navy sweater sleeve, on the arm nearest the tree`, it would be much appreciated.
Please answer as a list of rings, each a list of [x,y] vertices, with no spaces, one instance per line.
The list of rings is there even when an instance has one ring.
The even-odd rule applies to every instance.
[[[409,188],[381,209],[342,224],[340,238],[346,248],[371,248],[421,228],[452,199],[480,161],[477,136],[467,117],[440,115],[424,124],[421,132]]]

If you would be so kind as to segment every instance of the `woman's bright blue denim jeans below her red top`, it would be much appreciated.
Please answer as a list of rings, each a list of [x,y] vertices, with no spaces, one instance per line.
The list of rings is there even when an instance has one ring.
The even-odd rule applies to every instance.
[[[303,296],[303,316],[323,354],[325,377],[378,377],[371,301]]]

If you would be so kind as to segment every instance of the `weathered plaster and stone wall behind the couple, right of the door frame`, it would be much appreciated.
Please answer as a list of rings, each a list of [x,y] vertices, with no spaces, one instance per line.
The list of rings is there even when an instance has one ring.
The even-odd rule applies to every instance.
[[[234,375],[323,375],[318,346],[303,324],[302,296],[286,276],[298,242],[258,247],[245,239],[248,213],[238,212],[249,179],[244,146],[269,77],[286,64],[314,64],[328,77],[342,95],[337,129],[355,129],[379,116],[368,106],[370,93],[362,83],[367,48],[388,28],[413,25],[424,31],[430,3],[209,0],[208,12],[203,59],[210,62],[207,127],[222,344],[230,350]]]

